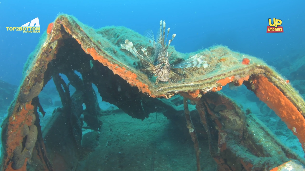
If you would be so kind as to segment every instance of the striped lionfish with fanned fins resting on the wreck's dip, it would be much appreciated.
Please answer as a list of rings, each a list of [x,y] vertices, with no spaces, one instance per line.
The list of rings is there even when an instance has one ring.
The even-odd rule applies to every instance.
[[[155,58],[153,63],[147,56],[147,51],[144,47],[140,46],[146,58],[138,53],[138,51],[135,49],[131,41],[125,40],[125,44],[121,44],[121,47],[123,49],[130,51],[135,57],[137,57],[140,60],[138,62],[133,63],[133,65],[135,65],[136,68],[139,68],[140,71],[144,72],[145,74],[148,74],[149,77],[152,77],[152,75],[157,77],[156,84],[158,84],[159,81],[162,82],[182,81],[185,74],[185,71],[182,68],[189,68],[189,67],[206,68],[207,66],[209,66],[206,61],[203,61],[203,57],[202,56],[198,57],[197,54],[195,56],[192,56],[191,58],[188,58],[185,61],[182,61],[179,64],[170,65],[168,60],[169,55],[167,49],[170,43],[175,38],[176,34],[172,35],[172,38],[168,41],[168,45],[166,46],[169,31],[170,28],[167,29],[167,36],[166,36],[166,40],[164,41],[165,21],[162,22],[161,20],[160,32],[157,35],[157,41],[155,41],[152,30],[149,29],[145,32],[145,37],[152,45],[155,52]]]

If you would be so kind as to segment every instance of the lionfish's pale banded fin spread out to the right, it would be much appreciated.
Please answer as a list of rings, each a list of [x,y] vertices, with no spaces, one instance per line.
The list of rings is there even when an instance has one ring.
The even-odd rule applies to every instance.
[[[203,61],[203,57],[202,56],[198,57],[196,54],[195,56],[192,56],[191,58],[188,58],[187,60],[174,65],[173,68],[189,68],[189,67],[206,68],[208,66],[209,64],[207,64],[206,61]]]

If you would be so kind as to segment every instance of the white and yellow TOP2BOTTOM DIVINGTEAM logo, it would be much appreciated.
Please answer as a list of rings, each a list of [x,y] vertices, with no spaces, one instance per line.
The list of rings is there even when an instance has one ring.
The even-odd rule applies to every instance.
[[[23,33],[40,33],[39,19],[34,18],[20,27],[6,27],[7,31],[23,31]]]

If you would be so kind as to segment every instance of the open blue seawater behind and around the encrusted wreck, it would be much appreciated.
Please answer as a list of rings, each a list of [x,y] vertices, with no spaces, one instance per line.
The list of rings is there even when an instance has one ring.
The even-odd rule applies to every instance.
[[[80,22],[95,29],[104,26],[125,26],[140,34],[144,34],[147,29],[152,29],[155,35],[159,29],[159,22],[163,19],[166,21],[166,26],[170,27],[170,35],[176,34],[174,41],[170,44],[176,51],[189,53],[214,45],[224,45],[233,51],[263,59],[286,79],[289,79],[291,73],[287,72],[287,68],[286,70],[283,68],[293,66],[296,58],[300,61],[301,57],[305,57],[305,1],[303,0],[0,1],[0,81],[16,86],[15,88],[21,82],[23,66],[28,55],[34,51],[41,35],[47,30],[48,24],[52,23],[59,14],[73,15]],[[6,27],[20,27],[36,17],[39,18],[40,33],[7,31]],[[281,19],[284,33],[266,33],[269,18]],[[305,82],[304,66],[299,76],[296,76],[298,73],[294,73],[294,78]],[[64,79],[67,80],[66,77]],[[293,86],[297,90],[301,87],[305,93],[305,85]],[[46,92],[40,94],[39,98],[44,100],[46,95],[50,95],[45,97],[45,101],[48,102],[51,99],[53,106],[42,104],[47,112],[46,117],[41,118],[42,125],[51,117],[55,107],[61,107],[61,103],[56,103],[56,101],[60,102],[60,98],[53,82],[48,83],[46,87],[51,90],[44,89],[43,91]],[[242,104],[244,110],[251,108],[264,124],[270,129],[274,128],[272,132],[285,145],[300,156],[304,156],[296,136],[265,104],[259,108],[260,101],[252,92],[250,92],[252,94],[246,94],[246,97],[245,92],[249,91],[245,86],[238,91],[231,91],[228,87],[224,87],[221,92]],[[250,98],[252,101],[249,100]],[[100,97],[99,102],[102,110],[113,107],[109,103],[102,102]],[[56,106],[56,104],[59,105]],[[0,123],[7,116],[7,113],[3,111],[2,106],[2,110],[0,107]],[[127,117],[129,116],[126,115],[123,119],[127,120]],[[166,117],[158,116],[159,118],[164,119],[163,124],[167,123]],[[149,121],[132,122],[145,127]],[[193,149],[192,146],[190,148]]]

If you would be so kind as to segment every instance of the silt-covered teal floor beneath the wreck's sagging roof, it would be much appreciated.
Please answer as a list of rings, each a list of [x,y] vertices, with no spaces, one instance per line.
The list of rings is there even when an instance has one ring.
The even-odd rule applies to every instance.
[[[99,145],[77,167],[81,170],[196,170],[191,137],[181,133],[174,122],[161,113],[139,120],[125,113],[100,117],[103,120]],[[185,131],[188,129],[185,127]],[[207,141],[200,141],[201,169],[216,169]],[[85,167],[86,166],[86,167]],[[90,167],[91,166],[91,167]]]

